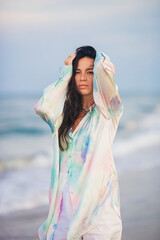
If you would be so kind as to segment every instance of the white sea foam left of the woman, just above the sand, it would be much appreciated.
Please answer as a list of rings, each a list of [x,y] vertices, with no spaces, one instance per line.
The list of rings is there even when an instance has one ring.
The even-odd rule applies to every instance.
[[[50,169],[44,166],[6,172],[0,181],[0,214],[48,204],[49,182]]]

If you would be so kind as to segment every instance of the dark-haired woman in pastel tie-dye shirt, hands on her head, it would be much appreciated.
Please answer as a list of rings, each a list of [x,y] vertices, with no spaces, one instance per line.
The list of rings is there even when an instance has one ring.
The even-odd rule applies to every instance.
[[[119,240],[119,185],[112,143],[123,113],[115,67],[91,46],[65,60],[35,111],[53,134],[49,213],[40,240]]]

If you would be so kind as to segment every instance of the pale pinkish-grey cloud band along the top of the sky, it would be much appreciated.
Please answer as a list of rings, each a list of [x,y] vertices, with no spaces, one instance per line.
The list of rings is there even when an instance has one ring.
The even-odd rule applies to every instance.
[[[155,7],[159,6],[156,0],[154,1],[126,1],[121,0],[112,1],[84,1],[76,2],[72,0],[68,1],[9,1],[6,0],[5,3],[14,3],[11,6],[4,4],[6,6],[1,8],[0,20],[5,25],[9,24],[32,24],[36,23],[41,25],[43,22],[49,24],[50,20],[55,20],[55,22],[62,23],[63,21],[79,22],[94,19],[109,19],[109,18],[128,18],[134,14],[142,14],[143,12],[151,11]],[[156,5],[157,4],[157,5]],[[52,22],[53,24],[53,22]],[[2,24],[1,24],[2,25]]]

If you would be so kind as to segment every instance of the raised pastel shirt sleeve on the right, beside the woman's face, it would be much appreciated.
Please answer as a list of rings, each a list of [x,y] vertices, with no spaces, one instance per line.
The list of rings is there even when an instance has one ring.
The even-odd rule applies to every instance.
[[[123,104],[115,82],[115,66],[103,52],[97,52],[94,62],[93,96],[106,119],[123,112]]]

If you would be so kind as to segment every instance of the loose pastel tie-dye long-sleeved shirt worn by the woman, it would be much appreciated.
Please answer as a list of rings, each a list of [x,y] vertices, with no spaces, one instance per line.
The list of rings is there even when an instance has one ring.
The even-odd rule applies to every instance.
[[[124,107],[114,79],[115,67],[106,54],[96,53],[93,69],[94,104],[74,132],[69,130],[69,148],[61,152],[58,128],[62,123],[67,85],[72,71],[72,65],[64,65],[62,76],[45,88],[43,96],[35,105],[36,113],[48,123],[53,136],[49,213],[46,221],[38,229],[40,240],[54,239],[68,173],[74,214],[67,240],[77,240],[96,226],[108,198],[121,217],[112,143]]]

